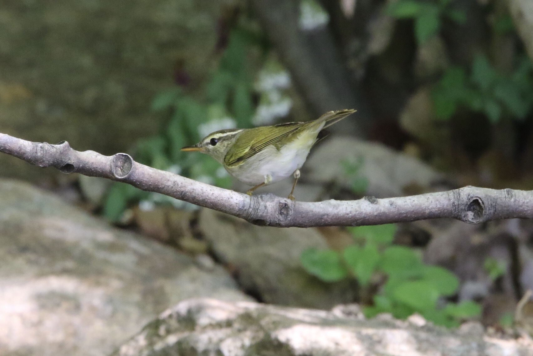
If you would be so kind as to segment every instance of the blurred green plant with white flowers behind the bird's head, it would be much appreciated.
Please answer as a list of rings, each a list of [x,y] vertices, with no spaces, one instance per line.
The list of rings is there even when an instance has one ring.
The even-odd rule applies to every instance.
[[[196,144],[213,131],[251,126],[255,114],[254,77],[247,59],[253,48],[259,49],[265,57],[268,45],[256,31],[237,26],[231,31],[219,66],[207,80],[200,97],[177,86],[160,92],[151,108],[167,113],[167,121],[159,135],[138,143],[135,160],[204,183],[229,187],[231,178],[219,163],[207,155],[180,150]],[[108,194],[104,216],[111,221],[118,221],[129,202],[142,199],[183,204],[169,197],[117,183]]]

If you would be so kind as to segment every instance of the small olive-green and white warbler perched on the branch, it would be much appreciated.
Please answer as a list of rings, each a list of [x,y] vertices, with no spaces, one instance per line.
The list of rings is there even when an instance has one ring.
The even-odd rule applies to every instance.
[[[289,199],[300,178],[300,168],[318,133],[356,112],[353,109],[330,111],[309,122],[289,122],[253,129],[228,129],[207,135],[194,146],[181,151],[206,153],[219,161],[232,177],[254,186],[255,189],[294,176]]]

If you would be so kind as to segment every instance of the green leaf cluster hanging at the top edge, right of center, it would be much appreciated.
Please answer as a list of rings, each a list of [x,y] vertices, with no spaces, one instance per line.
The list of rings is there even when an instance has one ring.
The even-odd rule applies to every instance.
[[[416,41],[420,45],[440,31],[443,18],[457,23],[466,22],[466,14],[453,9],[450,3],[451,0],[433,2],[400,0],[391,3],[387,7],[387,12],[398,19],[413,19]]]

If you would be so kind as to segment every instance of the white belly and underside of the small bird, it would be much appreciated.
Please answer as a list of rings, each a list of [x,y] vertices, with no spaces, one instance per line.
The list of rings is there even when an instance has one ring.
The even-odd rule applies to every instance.
[[[228,168],[228,173],[252,186],[285,179],[302,167],[320,130],[304,133],[279,151],[273,145],[265,147],[238,167]]]

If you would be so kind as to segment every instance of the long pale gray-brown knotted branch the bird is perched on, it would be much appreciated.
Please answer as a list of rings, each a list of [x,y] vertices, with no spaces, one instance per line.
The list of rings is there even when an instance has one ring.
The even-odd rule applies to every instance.
[[[279,227],[357,226],[433,218],[479,224],[488,220],[533,218],[533,191],[464,187],[453,191],[376,199],[293,202],[273,194],[249,196],[214,187],[133,161],[130,155],[78,152],[66,141],[35,143],[0,133],[0,152],[39,167],[131,184],[243,218]]]

